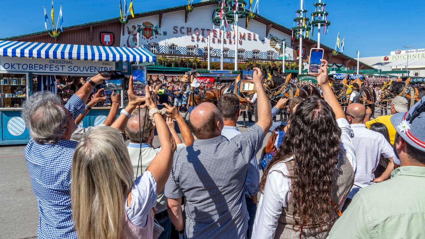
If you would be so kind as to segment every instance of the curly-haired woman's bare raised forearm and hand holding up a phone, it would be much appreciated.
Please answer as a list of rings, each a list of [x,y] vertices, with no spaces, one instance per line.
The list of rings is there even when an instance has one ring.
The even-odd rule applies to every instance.
[[[337,97],[335,97],[334,92],[332,92],[331,86],[328,82],[328,61],[327,60],[321,60],[324,65],[321,67],[322,72],[320,74],[312,74],[312,76],[317,77],[317,83],[322,89],[323,98],[325,101],[331,106],[332,110],[335,113],[335,118],[344,118],[345,114],[343,111],[343,108],[341,108],[340,103],[337,100]]]

